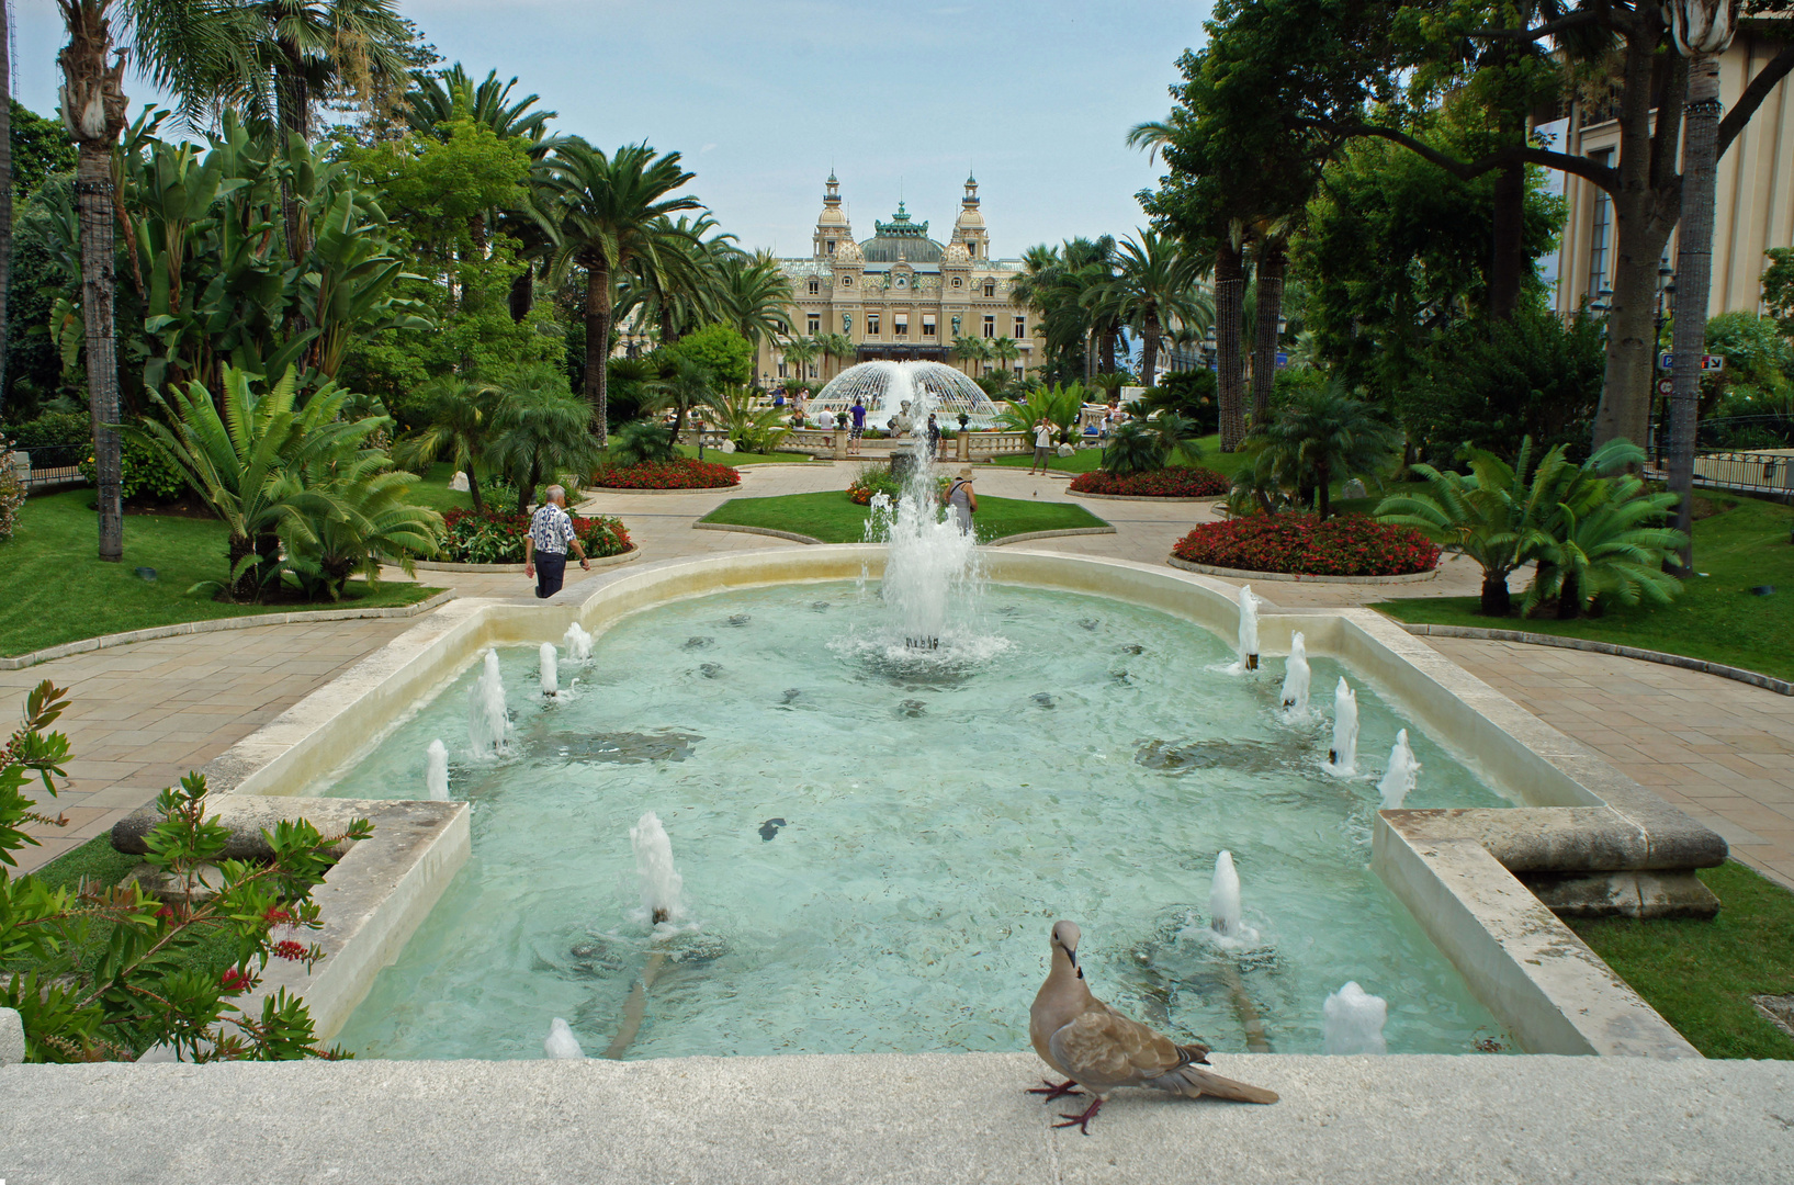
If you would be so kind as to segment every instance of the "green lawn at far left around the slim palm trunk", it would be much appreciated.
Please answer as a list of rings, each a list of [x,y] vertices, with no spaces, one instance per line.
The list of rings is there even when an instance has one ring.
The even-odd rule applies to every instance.
[[[18,531],[0,543],[0,654],[176,622],[292,610],[414,604],[434,588],[388,583],[368,592],[352,581],[339,604],[224,604],[187,590],[221,581],[224,527],[210,518],[126,515],[124,563],[100,563],[91,489],[34,497]],[[154,568],[156,579],[136,568]]]

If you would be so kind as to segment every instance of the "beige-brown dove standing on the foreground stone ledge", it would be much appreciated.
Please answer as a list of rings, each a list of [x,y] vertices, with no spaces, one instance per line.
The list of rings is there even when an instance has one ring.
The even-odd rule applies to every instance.
[[[1057,1086],[1046,1081],[1028,1094],[1042,1094],[1051,1103],[1082,1095],[1073,1086],[1084,1086],[1096,1095],[1082,1113],[1062,1111],[1060,1119],[1066,1122],[1053,1124],[1055,1128],[1076,1128],[1089,1135],[1091,1120],[1116,1086],[1152,1086],[1186,1099],[1215,1095],[1238,1103],[1277,1101],[1274,1090],[1198,1068],[1209,1063],[1207,1045],[1179,1045],[1091,995],[1084,968],[1078,966],[1078,927],[1073,921],[1053,923],[1053,970],[1033,997],[1028,1038],[1041,1061],[1066,1079]]]

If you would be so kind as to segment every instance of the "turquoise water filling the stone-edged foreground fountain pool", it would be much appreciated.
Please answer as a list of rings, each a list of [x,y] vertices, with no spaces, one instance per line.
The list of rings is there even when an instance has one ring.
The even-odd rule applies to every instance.
[[[1369,869],[1396,730],[1410,807],[1507,805],[1358,687],[1360,780],[1328,722],[1276,706],[1281,660],[1164,613],[992,586],[974,645],[895,656],[875,592],[806,584],[624,618],[545,701],[535,647],[499,651],[511,753],[472,760],[472,663],[330,794],[423,798],[450,749],[474,853],[341,1042],[375,1058],[538,1058],[553,1016],[610,1043],[651,948],[673,952],[630,1058],[1026,1049],[1055,918],[1084,927],[1110,1004],[1245,1049],[1243,991],[1281,1052],[1320,1051],[1346,981],[1389,1000],[1392,1052],[1507,1036]],[[1331,710],[1340,667],[1313,660]],[[630,826],[655,810],[684,877],[657,943]],[[780,823],[773,823],[782,819]],[[1207,929],[1215,857],[1256,943]]]

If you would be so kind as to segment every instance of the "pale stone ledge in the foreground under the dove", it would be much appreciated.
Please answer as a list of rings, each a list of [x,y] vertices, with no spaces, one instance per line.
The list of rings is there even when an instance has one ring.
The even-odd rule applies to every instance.
[[[545,1029],[545,1025],[544,1025]],[[1794,1063],[1232,1056],[1272,1106],[1116,1092],[1033,1054],[0,1068],[18,1185],[1690,1181],[1794,1165]]]

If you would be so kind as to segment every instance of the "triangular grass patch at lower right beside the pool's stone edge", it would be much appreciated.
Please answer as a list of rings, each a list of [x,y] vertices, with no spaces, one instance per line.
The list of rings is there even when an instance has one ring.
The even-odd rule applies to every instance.
[[[1719,895],[1713,921],[1570,921],[1650,1008],[1708,1058],[1794,1060],[1794,1038],[1753,995],[1794,991],[1794,893],[1728,861],[1699,873]]]

